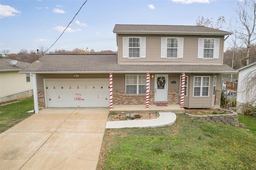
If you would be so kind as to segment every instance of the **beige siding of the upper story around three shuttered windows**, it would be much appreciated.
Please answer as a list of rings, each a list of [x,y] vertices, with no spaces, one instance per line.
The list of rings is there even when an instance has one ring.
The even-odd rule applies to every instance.
[[[123,37],[146,37],[146,58],[123,58]],[[184,38],[183,58],[161,58],[161,38]],[[220,38],[218,59],[198,59],[198,38]],[[169,35],[119,35],[118,34],[118,63],[119,64],[222,64],[224,36],[169,36]]]

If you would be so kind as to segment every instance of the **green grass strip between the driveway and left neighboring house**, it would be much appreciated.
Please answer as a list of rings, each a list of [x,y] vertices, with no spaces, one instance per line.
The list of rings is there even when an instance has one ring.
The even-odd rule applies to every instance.
[[[20,100],[18,103],[1,106],[0,133],[33,115],[34,113],[26,113],[31,110],[34,110],[33,97]]]

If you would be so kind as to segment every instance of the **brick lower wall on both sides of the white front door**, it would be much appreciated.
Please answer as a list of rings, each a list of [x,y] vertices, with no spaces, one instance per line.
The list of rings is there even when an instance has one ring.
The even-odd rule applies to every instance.
[[[150,90],[149,104],[154,105],[155,92]],[[157,102],[166,103],[170,105],[179,104],[179,91],[168,90],[168,102]],[[114,105],[146,105],[146,95],[126,95],[125,91],[113,91],[113,104]]]

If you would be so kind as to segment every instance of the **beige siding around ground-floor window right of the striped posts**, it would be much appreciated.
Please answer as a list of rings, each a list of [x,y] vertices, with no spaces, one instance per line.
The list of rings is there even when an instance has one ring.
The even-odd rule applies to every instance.
[[[194,76],[210,76],[209,97],[193,97]],[[213,74],[191,74],[189,76],[189,105],[188,108],[211,108],[212,107],[212,83]]]

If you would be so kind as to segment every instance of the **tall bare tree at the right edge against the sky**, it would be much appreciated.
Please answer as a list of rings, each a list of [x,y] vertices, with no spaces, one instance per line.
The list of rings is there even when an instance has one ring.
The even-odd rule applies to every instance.
[[[249,64],[250,49],[252,42],[256,40],[256,2],[255,0],[244,0],[237,2],[237,8],[235,9],[238,14],[236,22],[240,24],[239,38],[246,44],[246,65]]]

